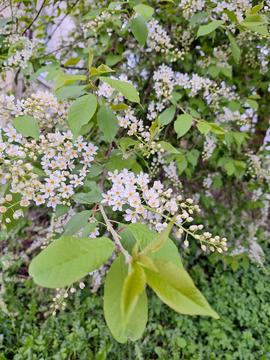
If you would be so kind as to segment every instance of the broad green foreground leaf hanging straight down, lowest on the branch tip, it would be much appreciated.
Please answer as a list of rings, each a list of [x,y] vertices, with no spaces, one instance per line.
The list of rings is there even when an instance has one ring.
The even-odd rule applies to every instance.
[[[147,295],[144,290],[139,295],[130,321],[123,330],[120,304],[127,273],[128,266],[125,264],[125,257],[120,255],[110,267],[104,285],[104,317],[112,336],[120,343],[125,343],[128,339],[131,339],[131,341],[138,340],[144,332],[148,315]]]

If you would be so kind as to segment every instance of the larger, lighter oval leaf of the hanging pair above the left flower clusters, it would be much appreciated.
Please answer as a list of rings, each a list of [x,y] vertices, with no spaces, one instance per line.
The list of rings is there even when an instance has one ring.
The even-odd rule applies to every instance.
[[[91,120],[96,111],[97,101],[94,94],[84,95],[75,100],[68,111],[68,125],[77,139],[81,127]]]

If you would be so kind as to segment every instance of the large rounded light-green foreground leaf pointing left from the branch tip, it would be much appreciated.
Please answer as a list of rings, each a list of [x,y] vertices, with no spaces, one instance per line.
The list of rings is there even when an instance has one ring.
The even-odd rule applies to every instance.
[[[30,263],[29,275],[37,285],[61,288],[98,269],[114,250],[109,238],[60,237]]]

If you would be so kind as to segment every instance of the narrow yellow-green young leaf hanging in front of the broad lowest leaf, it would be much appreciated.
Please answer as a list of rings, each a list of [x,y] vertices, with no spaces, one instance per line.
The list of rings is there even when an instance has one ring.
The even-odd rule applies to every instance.
[[[139,295],[144,291],[146,277],[143,268],[134,263],[131,266],[131,273],[124,280],[121,296],[121,319],[123,330],[130,321],[132,312],[138,302]]]

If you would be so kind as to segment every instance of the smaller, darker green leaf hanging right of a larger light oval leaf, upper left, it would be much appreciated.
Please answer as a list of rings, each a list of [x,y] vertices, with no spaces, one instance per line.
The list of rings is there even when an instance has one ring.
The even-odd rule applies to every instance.
[[[105,139],[111,144],[114,136],[118,131],[118,120],[112,109],[106,105],[102,105],[96,116],[98,126],[103,131]]]

